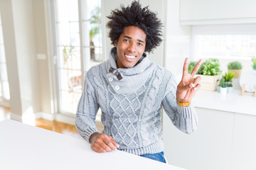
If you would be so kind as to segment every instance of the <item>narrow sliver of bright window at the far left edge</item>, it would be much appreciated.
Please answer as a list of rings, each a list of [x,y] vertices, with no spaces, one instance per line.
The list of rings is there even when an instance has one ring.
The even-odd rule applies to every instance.
[[[4,52],[4,35],[0,16],[0,103],[9,106],[10,91]]]

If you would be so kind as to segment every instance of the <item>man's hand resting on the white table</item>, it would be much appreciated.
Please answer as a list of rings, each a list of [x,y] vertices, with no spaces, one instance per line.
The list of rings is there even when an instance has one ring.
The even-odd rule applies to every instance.
[[[97,153],[112,152],[117,150],[119,145],[109,135],[104,133],[94,132],[90,136],[90,142],[92,143],[91,148]]]

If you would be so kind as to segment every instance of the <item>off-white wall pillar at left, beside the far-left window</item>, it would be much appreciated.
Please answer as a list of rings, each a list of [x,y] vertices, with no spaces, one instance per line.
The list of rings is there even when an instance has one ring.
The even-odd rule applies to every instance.
[[[9,77],[11,118],[41,111],[36,33],[32,0],[2,0],[6,65]]]

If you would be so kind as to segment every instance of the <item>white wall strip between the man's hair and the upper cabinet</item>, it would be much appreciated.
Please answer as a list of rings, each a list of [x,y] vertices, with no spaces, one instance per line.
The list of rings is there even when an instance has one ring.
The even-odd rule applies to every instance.
[[[186,57],[191,57],[191,26],[179,24],[179,0],[166,4],[166,69],[173,74],[182,74]]]

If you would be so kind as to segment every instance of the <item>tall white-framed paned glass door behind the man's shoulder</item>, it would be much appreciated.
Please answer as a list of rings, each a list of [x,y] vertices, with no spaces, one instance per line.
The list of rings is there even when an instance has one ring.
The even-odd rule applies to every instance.
[[[85,72],[100,64],[100,0],[55,0],[56,73],[60,113],[75,113]]]

